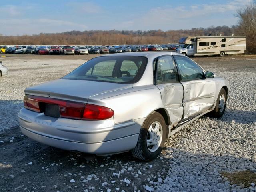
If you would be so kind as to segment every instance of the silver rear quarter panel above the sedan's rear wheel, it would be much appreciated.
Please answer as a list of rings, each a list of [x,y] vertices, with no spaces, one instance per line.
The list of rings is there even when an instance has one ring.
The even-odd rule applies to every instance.
[[[146,118],[152,111],[164,108],[160,91],[154,85],[99,94],[90,97],[88,103],[114,110],[115,123]]]

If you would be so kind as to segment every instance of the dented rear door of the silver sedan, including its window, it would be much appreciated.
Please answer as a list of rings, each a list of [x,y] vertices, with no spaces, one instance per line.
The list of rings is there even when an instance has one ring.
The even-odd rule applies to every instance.
[[[179,122],[183,115],[183,87],[172,56],[161,56],[155,63],[154,82],[159,88],[162,102],[166,107],[172,124]]]

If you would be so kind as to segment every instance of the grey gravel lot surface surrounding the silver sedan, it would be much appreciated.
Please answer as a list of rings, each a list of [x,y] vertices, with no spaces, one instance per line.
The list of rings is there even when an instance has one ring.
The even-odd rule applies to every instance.
[[[129,152],[109,157],[68,152],[20,132],[24,88],[59,78],[90,57],[0,58],[10,69],[0,78],[0,191],[256,191],[255,177],[242,174],[243,182],[234,183],[222,176],[256,174],[255,56],[192,58],[230,82],[226,112],[186,126],[152,162],[135,160]]]

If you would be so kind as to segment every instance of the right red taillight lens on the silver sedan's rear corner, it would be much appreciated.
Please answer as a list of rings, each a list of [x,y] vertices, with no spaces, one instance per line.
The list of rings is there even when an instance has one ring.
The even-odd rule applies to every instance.
[[[114,116],[114,111],[110,108],[86,104],[82,119],[84,120],[104,120]]]

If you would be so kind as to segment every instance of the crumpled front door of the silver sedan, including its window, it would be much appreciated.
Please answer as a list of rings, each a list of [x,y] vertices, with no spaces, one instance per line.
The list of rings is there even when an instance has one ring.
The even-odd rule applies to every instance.
[[[174,59],[184,87],[184,119],[210,109],[215,100],[215,81],[205,78],[202,68],[190,58],[174,56]]]

